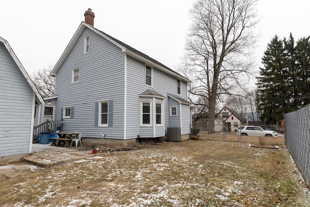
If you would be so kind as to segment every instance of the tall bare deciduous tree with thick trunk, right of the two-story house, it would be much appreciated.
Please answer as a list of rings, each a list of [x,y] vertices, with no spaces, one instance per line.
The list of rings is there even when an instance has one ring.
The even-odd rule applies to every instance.
[[[257,0],[197,0],[190,16],[186,61],[191,65],[190,93],[203,96],[208,132],[214,133],[215,110],[222,94],[233,94],[250,78],[250,58],[257,35]]]

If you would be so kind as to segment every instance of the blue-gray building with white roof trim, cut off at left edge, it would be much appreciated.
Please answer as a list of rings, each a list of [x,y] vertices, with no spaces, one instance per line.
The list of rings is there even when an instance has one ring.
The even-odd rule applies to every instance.
[[[35,105],[44,100],[0,37],[0,159],[31,153]]]

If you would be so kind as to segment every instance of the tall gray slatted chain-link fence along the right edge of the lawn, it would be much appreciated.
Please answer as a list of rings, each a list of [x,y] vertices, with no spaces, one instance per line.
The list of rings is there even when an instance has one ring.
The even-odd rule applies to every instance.
[[[310,187],[310,105],[284,115],[285,143]]]

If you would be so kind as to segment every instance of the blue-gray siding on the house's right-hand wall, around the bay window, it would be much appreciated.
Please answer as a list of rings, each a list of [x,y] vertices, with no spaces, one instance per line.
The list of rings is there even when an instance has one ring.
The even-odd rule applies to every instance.
[[[186,82],[182,81],[182,98],[187,99]],[[168,75],[161,70],[153,67],[153,87],[145,85],[145,64],[130,56],[127,56],[127,112],[126,112],[126,138],[136,138],[137,134],[143,137],[153,137],[153,127],[140,127],[140,97],[139,94],[144,90],[152,88],[162,96],[164,99],[164,125],[165,128],[172,126],[181,126],[180,123],[180,107],[179,103],[175,101],[174,105],[178,105],[178,116],[172,118],[170,122],[170,103],[168,100],[168,93],[177,95],[177,79]],[[156,99],[158,100],[158,99]],[[188,107],[189,108],[189,107]],[[177,120],[178,119],[178,120]],[[189,126],[189,114],[185,113],[183,117],[184,122],[187,120]],[[184,130],[187,133],[187,129]],[[189,133],[189,132],[188,132]],[[164,136],[163,127],[155,127],[155,136]]]

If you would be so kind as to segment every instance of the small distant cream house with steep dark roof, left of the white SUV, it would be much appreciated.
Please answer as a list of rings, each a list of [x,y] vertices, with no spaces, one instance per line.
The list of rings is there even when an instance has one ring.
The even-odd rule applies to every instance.
[[[223,123],[225,131],[234,131],[241,125],[246,125],[247,121],[238,112],[224,107],[216,115],[215,119],[215,131],[221,131],[223,129]]]

